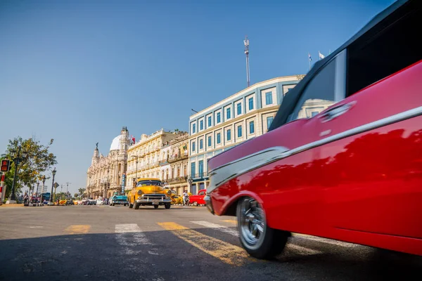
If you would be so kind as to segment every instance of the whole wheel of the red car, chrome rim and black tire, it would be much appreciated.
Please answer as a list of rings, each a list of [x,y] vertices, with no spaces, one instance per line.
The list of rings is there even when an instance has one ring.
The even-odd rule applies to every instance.
[[[257,259],[270,259],[283,251],[290,233],[270,228],[264,209],[252,197],[237,206],[238,230],[242,247]]]

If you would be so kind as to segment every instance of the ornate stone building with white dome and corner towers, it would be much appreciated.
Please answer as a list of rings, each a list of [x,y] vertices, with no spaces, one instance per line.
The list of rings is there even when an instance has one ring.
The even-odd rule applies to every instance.
[[[122,179],[127,170],[129,131],[122,128],[120,135],[113,139],[107,156],[100,154],[98,143],[94,150],[91,166],[87,172],[87,195],[90,198],[110,197],[122,191]],[[126,182],[126,181],[125,181]]]

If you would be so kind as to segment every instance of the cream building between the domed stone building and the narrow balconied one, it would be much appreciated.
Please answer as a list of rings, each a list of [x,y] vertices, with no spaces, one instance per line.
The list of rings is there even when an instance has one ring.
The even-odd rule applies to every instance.
[[[160,178],[160,152],[163,145],[176,135],[160,129],[131,145],[127,151],[127,185],[131,190],[136,185],[137,178]]]

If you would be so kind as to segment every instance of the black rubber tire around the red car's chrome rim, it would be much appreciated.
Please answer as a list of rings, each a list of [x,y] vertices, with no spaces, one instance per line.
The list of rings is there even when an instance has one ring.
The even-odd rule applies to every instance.
[[[244,203],[243,203],[244,202]],[[238,201],[236,216],[238,218],[238,232],[239,238],[241,240],[241,244],[243,249],[245,249],[248,254],[257,258],[257,259],[271,259],[274,256],[281,254],[284,247],[286,247],[286,243],[288,237],[290,237],[290,233],[283,230],[276,230],[274,228],[270,228],[267,224],[267,220],[265,217],[265,211],[262,209],[262,219],[261,221],[264,224],[263,232],[260,233],[260,236],[255,244],[248,241],[247,235],[243,232],[243,228],[248,228],[243,226],[243,222],[245,221],[245,216],[243,216],[242,204],[248,204],[248,202],[254,202],[257,206],[260,204],[257,203],[251,197],[243,197],[241,200]],[[246,230],[247,233],[248,230]]]

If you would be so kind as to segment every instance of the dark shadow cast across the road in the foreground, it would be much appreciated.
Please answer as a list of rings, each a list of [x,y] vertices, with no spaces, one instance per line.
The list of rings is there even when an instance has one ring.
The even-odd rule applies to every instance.
[[[195,230],[240,247],[232,235]],[[0,240],[0,280],[410,280],[421,273],[419,256],[294,243],[319,254],[287,249],[273,261],[231,266],[166,230]]]

